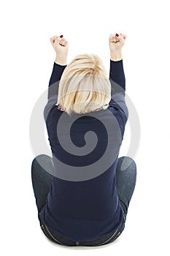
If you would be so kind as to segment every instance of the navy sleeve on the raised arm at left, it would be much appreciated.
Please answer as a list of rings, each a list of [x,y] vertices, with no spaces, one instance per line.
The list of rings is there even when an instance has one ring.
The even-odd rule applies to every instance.
[[[61,75],[63,70],[66,68],[66,65],[53,64],[53,71],[50,76],[48,94],[47,94],[47,105],[45,105],[44,118],[47,121],[47,116],[53,106],[56,104],[58,99],[58,86],[61,80]]]

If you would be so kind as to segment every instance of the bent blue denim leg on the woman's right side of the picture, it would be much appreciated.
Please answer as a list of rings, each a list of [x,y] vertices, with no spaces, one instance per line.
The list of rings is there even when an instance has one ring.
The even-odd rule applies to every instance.
[[[136,185],[136,163],[131,157],[120,157],[116,167],[116,187],[125,214]]]

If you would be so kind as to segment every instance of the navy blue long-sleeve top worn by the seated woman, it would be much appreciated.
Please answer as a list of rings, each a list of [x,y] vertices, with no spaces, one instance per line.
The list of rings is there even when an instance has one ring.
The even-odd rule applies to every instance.
[[[128,119],[123,60],[110,60],[109,107],[89,115],[70,117],[58,109],[58,86],[65,68],[54,62],[44,110],[54,175],[43,218],[47,227],[60,236],[90,241],[112,235],[123,222],[115,186],[117,158]],[[86,140],[89,131],[92,137]],[[78,154],[90,141],[92,151]],[[74,146],[77,154],[72,154]]]

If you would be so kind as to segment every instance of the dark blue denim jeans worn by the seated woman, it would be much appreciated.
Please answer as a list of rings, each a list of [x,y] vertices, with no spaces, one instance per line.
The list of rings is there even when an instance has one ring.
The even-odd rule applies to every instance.
[[[127,165],[125,170],[122,169],[122,163]],[[45,236],[47,236],[50,241],[66,246],[101,246],[115,241],[115,239],[118,238],[118,236],[120,236],[120,234],[123,232],[126,215],[128,213],[128,206],[136,185],[136,163],[133,159],[131,159],[131,157],[118,158],[116,167],[116,187],[120,200],[120,206],[124,212],[123,222],[120,227],[112,234],[112,236],[109,235],[105,238],[98,238],[93,241],[71,241],[67,238],[58,236],[56,233],[52,233],[45,225],[42,217],[42,211],[45,207],[47,195],[53,182],[53,158],[45,154],[41,154],[35,157],[31,165],[31,178],[34,189],[34,196],[36,198],[40,227],[42,228]]]

